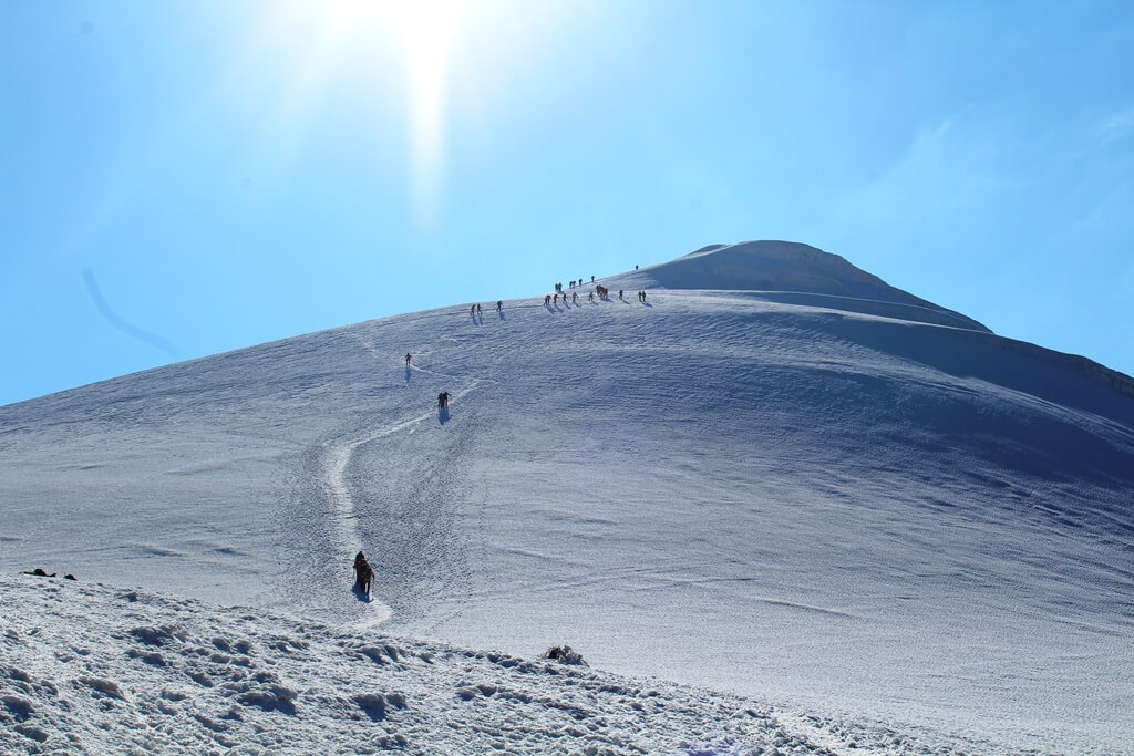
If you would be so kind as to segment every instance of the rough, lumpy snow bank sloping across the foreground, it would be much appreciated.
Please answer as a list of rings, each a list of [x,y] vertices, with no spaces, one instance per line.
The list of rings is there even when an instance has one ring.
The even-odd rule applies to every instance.
[[[0,597],[3,753],[954,749],[691,687],[102,585],[3,577]]]

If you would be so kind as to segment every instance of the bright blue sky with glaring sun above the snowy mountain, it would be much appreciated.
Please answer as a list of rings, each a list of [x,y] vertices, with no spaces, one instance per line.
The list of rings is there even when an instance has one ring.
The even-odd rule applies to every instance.
[[[0,96],[0,404],[747,239],[1134,373],[1128,2],[9,0]]]

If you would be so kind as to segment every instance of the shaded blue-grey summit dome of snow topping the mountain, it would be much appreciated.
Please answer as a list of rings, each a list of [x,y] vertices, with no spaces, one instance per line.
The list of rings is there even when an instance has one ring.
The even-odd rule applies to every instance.
[[[710,245],[668,263],[612,278],[618,286],[632,288],[759,291],[776,301],[826,304],[837,309],[989,331],[970,317],[886,283],[838,255],[796,241]]]

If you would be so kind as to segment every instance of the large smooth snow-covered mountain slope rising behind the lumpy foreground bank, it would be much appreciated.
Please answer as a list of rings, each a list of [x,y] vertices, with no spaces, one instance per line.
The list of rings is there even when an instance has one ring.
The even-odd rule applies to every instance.
[[[0,567],[1128,750],[1129,377],[805,245],[602,283],[0,408]]]

